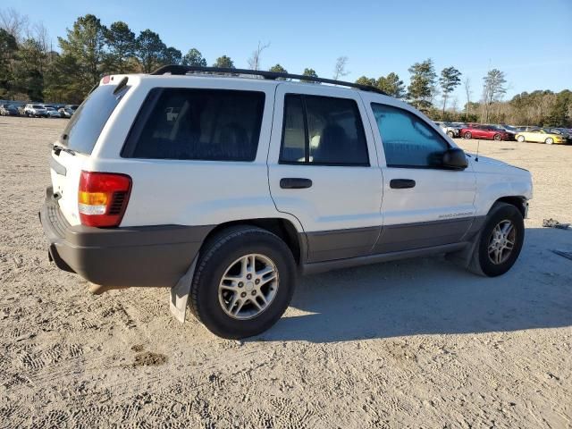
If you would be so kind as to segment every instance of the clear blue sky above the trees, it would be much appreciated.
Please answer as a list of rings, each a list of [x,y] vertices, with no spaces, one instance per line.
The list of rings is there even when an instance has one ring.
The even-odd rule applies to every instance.
[[[209,64],[229,55],[246,68],[260,40],[271,44],[264,68],[311,67],[328,78],[336,58],[347,55],[345,80],[395,71],[407,84],[408,67],[431,57],[438,72],[453,65],[468,76],[474,99],[489,68],[506,73],[507,97],[572,88],[572,0],[19,0],[11,6],[42,21],[55,46],[78,16],[94,13],[105,25],[121,20],[136,33],[152,29],[183,54],[197,47]],[[461,87],[455,96],[464,105]]]

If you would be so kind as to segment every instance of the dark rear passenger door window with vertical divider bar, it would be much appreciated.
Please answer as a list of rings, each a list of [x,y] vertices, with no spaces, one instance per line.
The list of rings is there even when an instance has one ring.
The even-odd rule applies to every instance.
[[[286,95],[280,162],[369,165],[366,134],[356,102]]]

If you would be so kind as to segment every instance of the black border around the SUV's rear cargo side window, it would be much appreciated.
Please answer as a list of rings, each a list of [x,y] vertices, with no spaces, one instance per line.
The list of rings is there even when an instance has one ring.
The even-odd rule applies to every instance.
[[[224,91],[224,92],[249,92],[262,95],[262,106],[260,112],[260,123],[258,125],[258,141],[256,145],[256,150],[254,151],[254,157],[252,159],[205,159],[205,158],[148,158],[142,156],[134,156],[135,149],[139,142],[139,137],[149,116],[154,112],[159,99],[163,96],[164,92],[167,90],[181,90],[181,91]],[[209,162],[209,163],[249,163],[253,164],[257,161],[258,148],[260,147],[260,136],[262,135],[262,126],[265,120],[265,110],[266,110],[266,93],[261,90],[253,89],[231,89],[231,88],[194,88],[194,87],[154,87],[150,88],[147,92],[147,96],[143,100],[143,103],[139,106],[139,111],[135,115],[135,119],[130,125],[130,130],[127,133],[127,137],[123,141],[122,150],[120,151],[120,156],[122,158],[128,159],[143,159],[143,160],[159,160],[159,161],[176,161],[176,162]]]

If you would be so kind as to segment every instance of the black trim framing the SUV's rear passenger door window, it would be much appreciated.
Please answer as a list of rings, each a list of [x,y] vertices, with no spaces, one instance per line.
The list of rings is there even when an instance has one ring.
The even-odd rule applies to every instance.
[[[300,161],[284,161],[282,159],[282,150],[284,148],[284,133],[286,130],[286,97],[289,96],[296,96],[300,98],[302,104],[302,116],[304,122],[304,162]],[[314,163],[310,162],[310,138],[309,138],[309,130],[307,125],[307,105],[306,105],[306,97],[319,97],[319,98],[335,98],[338,100],[349,100],[352,101],[356,107],[357,118],[359,118],[359,122],[361,123],[361,131],[364,136],[364,143],[366,146],[366,163],[358,163],[358,164],[344,164],[344,163]],[[315,166],[330,166],[330,167],[371,167],[371,162],[369,158],[369,147],[367,147],[367,136],[366,136],[366,127],[364,126],[364,119],[362,118],[361,112],[359,111],[359,105],[357,105],[357,101],[353,98],[345,98],[345,97],[328,97],[328,96],[320,96],[315,94],[303,94],[297,92],[287,92],[284,93],[282,98],[282,136],[280,141],[280,152],[278,154],[278,164],[284,165],[315,165]]]

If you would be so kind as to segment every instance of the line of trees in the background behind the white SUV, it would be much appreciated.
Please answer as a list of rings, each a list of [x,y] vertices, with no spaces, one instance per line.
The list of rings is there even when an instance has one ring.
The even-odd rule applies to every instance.
[[[41,25],[29,25],[25,15],[13,9],[0,11],[0,98],[50,102],[80,103],[90,88],[105,74],[148,73],[165,64],[206,66],[206,58],[198,48],[182,54],[166,46],[151,29],[136,35],[126,22],[115,21],[108,27],[97,16],[87,14],[78,18],[58,38],[59,52],[48,42],[47,31]],[[248,66],[261,70],[261,56],[270,43],[258,42],[248,58]],[[337,58],[332,78],[339,80],[348,74],[347,56]],[[228,55],[217,57],[214,67],[233,69]],[[281,64],[270,71],[287,72]],[[406,87],[400,76],[391,72],[379,78],[361,76],[357,83],[383,90],[391,97],[402,98],[422,110],[433,120],[456,122],[488,122],[569,126],[572,124],[572,92],[553,93],[538,90],[521,93],[504,100],[508,84],[503,71],[492,69],[483,78],[482,93],[473,99],[472,82],[454,66],[438,74],[433,60],[426,59],[408,68]],[[317,77],[312,68],[305,76]],[[454,91],[462,84],[465,99],[459,106]]]

